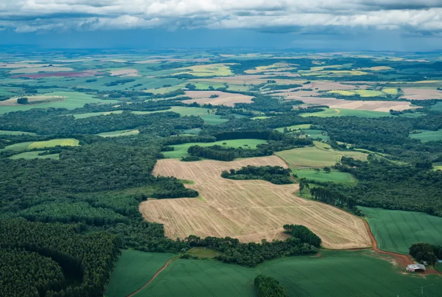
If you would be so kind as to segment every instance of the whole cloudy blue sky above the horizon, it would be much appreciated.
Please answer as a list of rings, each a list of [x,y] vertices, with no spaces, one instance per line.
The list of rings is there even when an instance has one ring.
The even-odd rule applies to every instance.
[[[0,0],[0,44],[437,51],[442,0]]]

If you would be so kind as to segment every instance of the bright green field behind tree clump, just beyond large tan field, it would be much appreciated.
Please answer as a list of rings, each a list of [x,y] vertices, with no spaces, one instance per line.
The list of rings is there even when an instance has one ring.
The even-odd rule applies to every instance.
[[[223,143],[227,143],[226,145],[223,145]],[[260,139],[234,139],[234,140],[222,140],[222,141],[215,141],[215,142],[189,142],[189,143],[183,143],[183,144],[176,144],[171,145],[175,147],[174,151],[171,152],[163,152],[164,157],[166,158],[181,158],[186,157],[187,149],[192,145],[199,145],[199,146],[212,146],[212,145],[221,145],[226,147],[239,147],[242,146],[243,148],[246,148],[244,144],[249,145],[252,150],[253,148],[256,148],[257,144],[266,143],[265,140]]]

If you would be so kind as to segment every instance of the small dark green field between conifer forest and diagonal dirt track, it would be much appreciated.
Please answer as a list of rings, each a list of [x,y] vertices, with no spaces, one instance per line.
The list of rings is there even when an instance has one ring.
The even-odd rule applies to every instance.
[[[171,253],[123,250],[107,286],[106,297],[125,297],[141,288],[167,262]]]

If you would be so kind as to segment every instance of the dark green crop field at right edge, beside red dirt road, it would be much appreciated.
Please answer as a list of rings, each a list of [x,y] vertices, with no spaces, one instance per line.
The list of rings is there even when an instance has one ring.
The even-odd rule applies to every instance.
[[[360,207],[382,250],[408,254],[416,242],[442,245],[442,218],[425,213]]]

